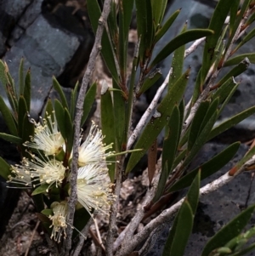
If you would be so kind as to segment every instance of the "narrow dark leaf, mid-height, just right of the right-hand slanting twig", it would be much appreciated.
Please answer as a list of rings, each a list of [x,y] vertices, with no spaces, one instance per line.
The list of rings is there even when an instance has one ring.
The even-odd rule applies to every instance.
[[[204,120],[205,115],[207,114],[209,105],[210,105],[209,100],[202,101],[201,105],[195,112],[195,116],[194,116],[193,121],[191,122],[191,126],[190,126],[190,134],[189,134],[189,140],[188,140],[188,151],[190,151],[191,148],[193,147],[193,145],[195,144],[195,141],[199,135],[201,123]]]

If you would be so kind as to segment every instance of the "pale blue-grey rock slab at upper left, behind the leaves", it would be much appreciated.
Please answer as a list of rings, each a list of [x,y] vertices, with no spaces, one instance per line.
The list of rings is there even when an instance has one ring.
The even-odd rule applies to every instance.
[[[18,81],[17,68],[22,57],[25,58],[25,70],[31,68],[31,116],[35,117],[42,111],[52,87],[52,76],[58,77],[64,71],[79,46],[80,41],[75,35],[50,26],[40,15],[5,54],[4,60],[14,81]],[[0,94],[4,95],[2,86]]]

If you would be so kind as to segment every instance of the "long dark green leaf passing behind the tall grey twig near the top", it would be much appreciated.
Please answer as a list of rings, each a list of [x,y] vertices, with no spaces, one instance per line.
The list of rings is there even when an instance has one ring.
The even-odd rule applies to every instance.
[[[89,15],[89,20],[91,22],[92,29],[94,31],[94,34],[97,31],[98,23],[99,23],[99,18],[101,15],[101,10],[99,8],[99,3],[98,1],[94,0],[88,0],[87,2],[87,10],[88,10],[88,15]],[[103,55],[103,58],[105,60],[105,64],[107,65],[111,76],[113,79],[118,82],[119,81],[119,76],[118,72],[116,70],[116,64],[114,60],[114,54],[111,48],[111,42],[109,40],[109,37],[107,33],[104,31],[103,37],[101,40],[101,44],[104,45],[103,48],[101,48],[101,54]]]

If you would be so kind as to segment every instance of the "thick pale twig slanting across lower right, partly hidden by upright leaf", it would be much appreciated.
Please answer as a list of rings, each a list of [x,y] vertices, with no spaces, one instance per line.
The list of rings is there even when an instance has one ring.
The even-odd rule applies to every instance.
[[[229,183],[229,181],[232,179],[234,179],[234,176],[229,176],[229,172],[222,175],[218,179],[213,180],[211,183],[203,186],[200,189],[200,196],[205,196],[212,191],[218,190],[218,188]],[[129,237],[128,243],[122,245],[121,250],[116,253],[116,256],[127,256],[128,253],[133,252],[133,249],[137,247],[141,242],[143,242],[146,237],[150,236],[150,233],[155,230],[156,227],[173,218],[173,215],[177,213],[183,202],[184,198],[175,203],[171,208],[164,210],[155,219],[152,219],[150,223],[146,225],[144,229],[141,230],[137,235],[132,236],[132,238]]]

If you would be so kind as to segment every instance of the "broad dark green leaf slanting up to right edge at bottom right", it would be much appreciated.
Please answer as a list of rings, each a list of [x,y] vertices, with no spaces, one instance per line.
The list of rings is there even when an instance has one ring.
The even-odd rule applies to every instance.
[[[224,227],[207,242],[201,256],[209,255],[215,248],[223,247],[229,240],[238,236],[251,219],[254,208],[255,205],[246,208],[246,210],[238,214],[235,219],[232,219],[227,225],[224,225]]]

